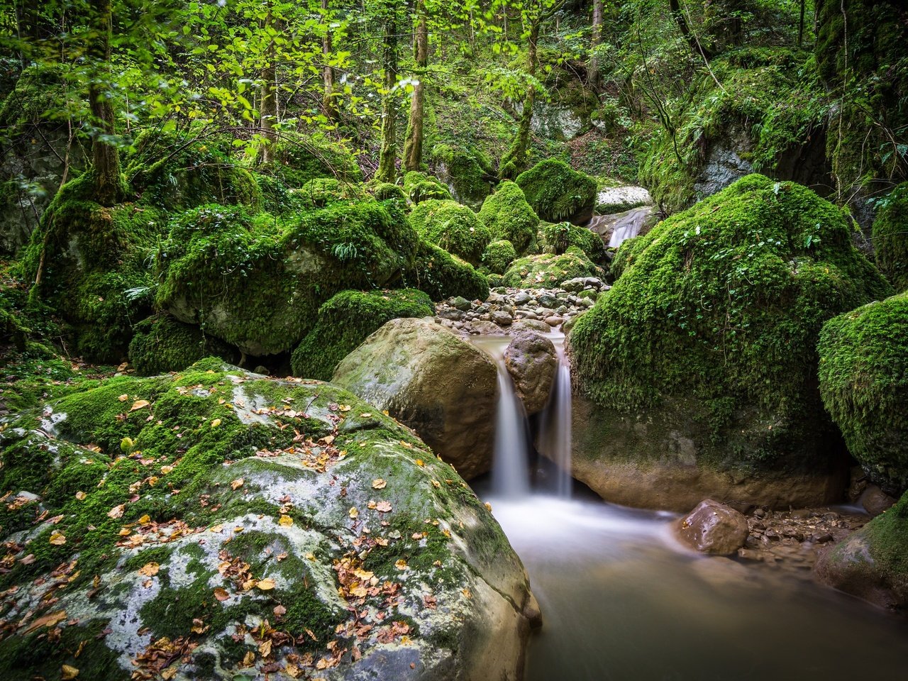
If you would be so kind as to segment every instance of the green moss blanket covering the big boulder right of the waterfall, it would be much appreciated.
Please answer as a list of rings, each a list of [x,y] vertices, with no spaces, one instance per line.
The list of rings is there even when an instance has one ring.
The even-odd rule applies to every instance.
[[[622,413],[691,396],[688,416],[712,423],[702,444],[719,459],[797,462],[807,449],[828,461],[817,445],[831,426],[815,383],[820,328],[889,290],[843,213],[749,175],[627,248],[615,286],[571,331],[581,390]]]

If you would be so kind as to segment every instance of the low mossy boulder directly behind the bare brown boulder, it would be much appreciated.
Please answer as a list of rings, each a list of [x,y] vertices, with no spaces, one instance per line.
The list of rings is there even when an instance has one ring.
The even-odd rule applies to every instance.
[[[331,380],[341,360],[386,321],[434,313],[423,291],[341,291],[321,305],[319,320],[293,350],[293,375]]]

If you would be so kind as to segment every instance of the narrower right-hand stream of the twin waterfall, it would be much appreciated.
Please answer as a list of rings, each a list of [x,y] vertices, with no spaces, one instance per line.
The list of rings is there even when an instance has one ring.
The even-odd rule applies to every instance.
[[[555,477],[555,492],[560,498],[569,498],[571,492],[570,451],[571,451],[571,386],[570,364],[565,353],[565,335],[551,334],[548,338],[558,353],[558,370],[555,383],[548,398],[546,410],[542,413],[539,430],[539,452],[555,462],[558,471]]]

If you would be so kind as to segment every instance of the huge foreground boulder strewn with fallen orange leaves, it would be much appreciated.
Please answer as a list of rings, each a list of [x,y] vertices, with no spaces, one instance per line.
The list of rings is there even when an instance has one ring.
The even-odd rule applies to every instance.
[[[4,678],[520,677],[508,539],[349,392],[202,360],[86,382],[0,458]]]

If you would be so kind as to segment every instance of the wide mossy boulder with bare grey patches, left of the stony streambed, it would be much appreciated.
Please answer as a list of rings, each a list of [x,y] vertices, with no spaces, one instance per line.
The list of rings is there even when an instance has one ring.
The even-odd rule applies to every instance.
[[[331,203],[286,221],[205,206],[172,222],[156,302],[247,354],[292,350],[338,291],[400,279],[417,241],[396,202]]]

